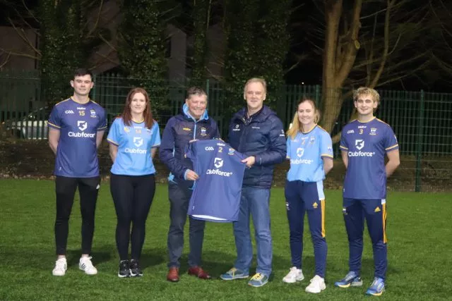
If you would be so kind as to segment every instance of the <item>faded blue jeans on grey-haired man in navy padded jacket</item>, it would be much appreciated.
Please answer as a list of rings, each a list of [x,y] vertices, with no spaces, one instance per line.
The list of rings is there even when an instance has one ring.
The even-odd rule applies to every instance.
[[[270,189],[242,188],[240,199],[239,221],[233,223],[235,246],[237,247],[236,269],[249,274],[249,267],[253,259],[253,246],[249,231],[249,216],[253,216],[257,247],[256,273],[271,274],[273,256],[270,232]]]

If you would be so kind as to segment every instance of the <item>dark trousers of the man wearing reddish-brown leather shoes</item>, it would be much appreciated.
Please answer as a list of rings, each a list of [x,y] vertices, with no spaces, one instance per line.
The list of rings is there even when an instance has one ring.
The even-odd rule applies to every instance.
[[[184,226],[186,222],[186,215],[189,209],[189,201],[193,191],[183,185],[174,183],[168,184],[169,195],[169,224],[168,231],[168,267],[180,266],[179,259],[184,250]],[[203,250],[204,227],[205,221],[197,219],[190,219],[189,239],[190,239],[190,254],[189,266],[201,265],[201,252]]]

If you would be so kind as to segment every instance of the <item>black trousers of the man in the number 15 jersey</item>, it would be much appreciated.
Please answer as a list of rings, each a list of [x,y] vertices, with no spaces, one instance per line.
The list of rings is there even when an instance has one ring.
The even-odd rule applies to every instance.
[[[55,243],[57,255],[66,254],[69,233],[69,216],[71,216],[73,198],[76,189],[80,195],[82,215],[82,254],[90,254],[93,245],[94,216],[100,177],[68,178],[57,176],[55,192],[57,194],[57,219],[55,220]]]

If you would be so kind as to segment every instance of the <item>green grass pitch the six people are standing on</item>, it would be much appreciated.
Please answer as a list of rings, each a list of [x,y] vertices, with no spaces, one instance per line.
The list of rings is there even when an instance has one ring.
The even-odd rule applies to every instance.
[[[334,281],[347,272],[348,247],[340,191],[326,191],[327,288],[321,294],[304,292],[314,276],[309,231],[305,233],[302,283],[281,279],[290,268],[288,226],[284,192],[274,188],[270,200],[273,233],[273,275],[262,288],[246,280],[221,281],[222,272],[235,258],[231,224],[208,223],[203,247],[203,267],[215,279],[201,281],[182,274],[169,283],[166,235],[169,225],[167,186],[157,186],[148,217],[141,278],[118,278],[114,242],[116,216],[108,183],[97,202],[93,262],[99,270],[88,276],[78,270],[80,257],[80,207],[78,196],[70,222],[68,265],[64,277],[52,276],[54,266],[54,183],[47,180],[0,180],[0,300],[360,300],[373,279],[369,235],[364,238],[362,288],[335,288]],[[446,194],[391,192],[388,195],[388,277],[386,300],[452,299],[452,200]],[[307,227],[305,229],[308,229]],[[367,231],[367,230],[366,230]],[[188,231],[186,231],[188,234]],[[182,258],[186,271],[188,235]],[[255,262],[254,262],[255,264]],[[251,272],[254,272],[254,266]]]

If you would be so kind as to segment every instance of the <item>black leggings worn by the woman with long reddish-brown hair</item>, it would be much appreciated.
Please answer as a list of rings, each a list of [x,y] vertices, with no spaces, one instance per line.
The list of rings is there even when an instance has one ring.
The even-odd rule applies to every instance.
[[[128,259],[129,240],[131,259],[140,259],[145,238],[145,224],[155,194],[154,175],[119,176],[110,178],[114,209],[118,223],[116,245],[119,259]],[[130,224],[132,223],[132,231]]]

